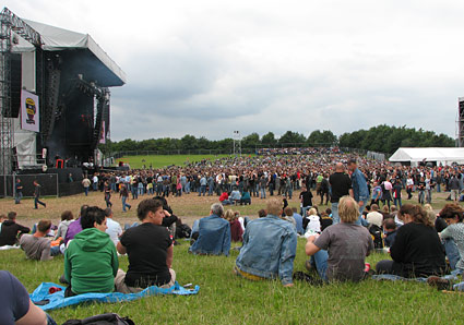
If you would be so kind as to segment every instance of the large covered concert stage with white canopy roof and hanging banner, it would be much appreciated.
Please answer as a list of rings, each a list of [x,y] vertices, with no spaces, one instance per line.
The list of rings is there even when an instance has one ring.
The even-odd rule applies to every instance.
[[[109,139],[109,87],[122,86],[124,72],[87,34],[7,8],[0,20],[0,174],[93,161]]]

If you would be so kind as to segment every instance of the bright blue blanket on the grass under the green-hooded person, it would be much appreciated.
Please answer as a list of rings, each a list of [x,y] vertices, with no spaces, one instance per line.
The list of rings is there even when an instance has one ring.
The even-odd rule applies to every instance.
[[[60,288],[61,291],[57,291],[55,293],[49,293],[50,287]],[[144,297],[155,296],[155,294],[197,294],[200,290],[199,286],[195,286],[194,289],[186,289],[176,281],[176,284],[169,289],[162,289],[158,287],[148,287],[145,290],[138,293],[84,293],[78,294],[74,297],[64,298],[66,287],[52,284],[52,282],[43,282],[37,289],[34,290],[33,293],[29,294],[31,300],[33,302],[41,303],[48,300],[48,303],[44,305],[39,305],[44,311],[56,310],[60,308],[64,308],[72,304],[79,304],[83,302],[120,302],[120,301],[132,301],[136,299],[141,299]]]

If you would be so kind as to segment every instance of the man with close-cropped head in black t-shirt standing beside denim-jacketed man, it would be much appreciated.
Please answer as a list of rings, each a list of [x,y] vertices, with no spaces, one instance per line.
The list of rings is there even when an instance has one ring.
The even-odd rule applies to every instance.
[[[340,222],[338,216],[338,201],[345,195],[353,195],[353,185],[349,176],[345,173],[345,167],[342,162],[335,164],[335,172],[329,178],[329,183],[332,188],[331,205],[332,205],[332,219],[333,225]]]

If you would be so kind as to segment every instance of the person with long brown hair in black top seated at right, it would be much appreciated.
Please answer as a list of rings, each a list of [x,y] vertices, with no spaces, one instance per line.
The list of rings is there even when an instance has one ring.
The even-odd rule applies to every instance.
[[[447,264],[443,246],[427,214],[419,205],[405,204],[400,209],[404,225],[396,231],[390,248],[391,260],[377,263],[378,274],[405,278],[443,275]]]

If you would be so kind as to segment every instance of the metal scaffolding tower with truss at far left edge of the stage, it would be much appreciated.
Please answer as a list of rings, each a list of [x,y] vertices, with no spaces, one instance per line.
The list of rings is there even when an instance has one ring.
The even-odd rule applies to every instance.
[[[41,41],[40,35],[8,8],[0,13],[0,174],[10,174],[13,170],[14,145],[11,109],[12,32],[36,47],[40,47]]]

